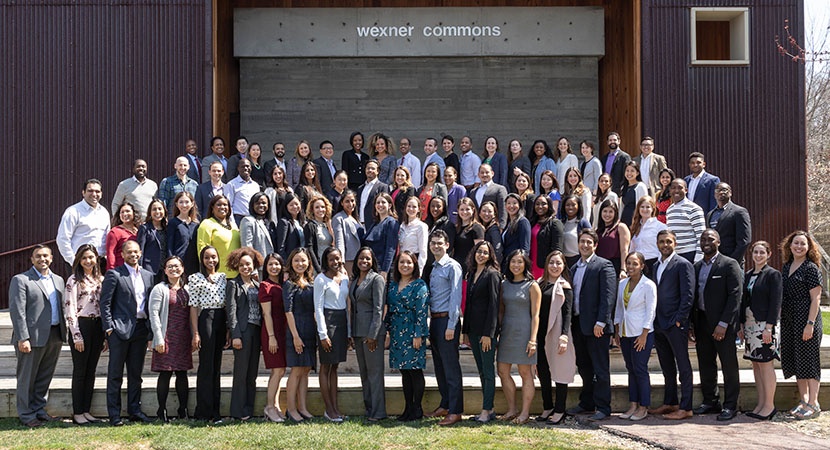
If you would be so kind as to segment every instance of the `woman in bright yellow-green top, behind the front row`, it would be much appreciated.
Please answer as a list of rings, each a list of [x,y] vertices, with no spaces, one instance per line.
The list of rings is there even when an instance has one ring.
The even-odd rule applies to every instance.
[[[236,275],[235,270],[227,267],[225,261],[232,251],[240,247],[239,228],[230,214],[231,206],[224,195],[213,197],[208,205],[208,217],[199,224],[196,231],[196,250],[202,254],[205,247],[213,247],[219,254],[219,266],[216,270],[229,278]]]

